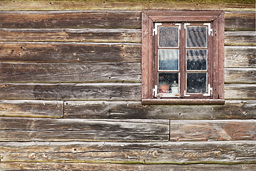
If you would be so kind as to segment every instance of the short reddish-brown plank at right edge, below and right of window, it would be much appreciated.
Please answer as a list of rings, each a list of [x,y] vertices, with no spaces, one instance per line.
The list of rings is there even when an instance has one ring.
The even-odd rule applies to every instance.
[[[256,140],[256,120],[170,120],[171,141]]]

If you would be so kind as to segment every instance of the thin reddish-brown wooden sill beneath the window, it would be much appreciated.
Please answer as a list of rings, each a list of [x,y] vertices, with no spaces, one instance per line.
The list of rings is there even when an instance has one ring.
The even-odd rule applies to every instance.
[[[143,105],[224,105],[224,99],[142,99]]]

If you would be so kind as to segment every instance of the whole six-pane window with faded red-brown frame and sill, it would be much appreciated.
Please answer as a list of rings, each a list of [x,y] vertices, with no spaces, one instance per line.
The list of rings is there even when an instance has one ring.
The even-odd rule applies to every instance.
[[[142,13],[142,103],[224,104],[224,13]]]

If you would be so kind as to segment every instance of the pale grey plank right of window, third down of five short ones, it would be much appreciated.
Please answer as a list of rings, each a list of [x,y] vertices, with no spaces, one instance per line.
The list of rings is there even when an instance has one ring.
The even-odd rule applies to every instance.
[[[256,67],[256,46],[225,46],[225,67]]]

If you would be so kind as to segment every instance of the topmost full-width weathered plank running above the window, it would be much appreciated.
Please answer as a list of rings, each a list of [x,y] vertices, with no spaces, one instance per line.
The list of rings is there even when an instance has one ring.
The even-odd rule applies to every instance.
[[[74,10],[74,9],[106,9],[106,10],[202,10],[202,9],[222,9],[225,11],[255,11],[255,1],[246,0],[220,0],[220,1],[104,1],[104,0],[90,0],[86,1],[58,1],[58,0],[21,0],[21,1],[0,1],[1,10]]]

